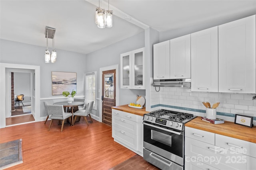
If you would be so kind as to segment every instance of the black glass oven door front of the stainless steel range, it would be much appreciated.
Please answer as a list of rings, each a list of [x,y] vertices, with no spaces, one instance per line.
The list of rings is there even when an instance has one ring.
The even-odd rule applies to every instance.
[[[144,125],[144,142],[183,158],[184,133],[181,135]]]

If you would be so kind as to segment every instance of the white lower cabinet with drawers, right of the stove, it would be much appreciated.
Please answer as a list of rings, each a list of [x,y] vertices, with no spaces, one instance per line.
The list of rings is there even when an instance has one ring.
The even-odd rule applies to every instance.
[[[185,169],[255,170],[255,152],[242,152],[243,147],[255,148],[255,143],[240,140],[240,145],[241,143],[236,143],[237,140],[239,139],[185,127]]]

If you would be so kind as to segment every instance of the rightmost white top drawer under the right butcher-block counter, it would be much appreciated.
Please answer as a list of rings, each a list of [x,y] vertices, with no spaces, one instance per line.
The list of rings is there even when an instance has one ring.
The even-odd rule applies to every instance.
[[[227,137],[219,134],[215,135],[215,140],[215,145],[218,147],[222,147],[256,158],[256,143],[243,141],[240,139]]]

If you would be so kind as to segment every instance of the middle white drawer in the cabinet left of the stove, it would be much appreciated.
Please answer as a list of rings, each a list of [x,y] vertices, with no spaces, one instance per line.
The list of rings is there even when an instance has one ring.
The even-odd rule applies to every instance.
[[[120,128],[129,133],[137,135],[137,123],[122,117],[118,117],[116,115],[112,116],[112,128]]]

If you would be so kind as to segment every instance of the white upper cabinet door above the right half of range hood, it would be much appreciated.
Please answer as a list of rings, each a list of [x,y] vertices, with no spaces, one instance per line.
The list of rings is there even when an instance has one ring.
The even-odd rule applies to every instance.
[[[170,40],[170,78],[191,78],[190,34]]]

